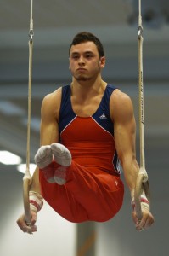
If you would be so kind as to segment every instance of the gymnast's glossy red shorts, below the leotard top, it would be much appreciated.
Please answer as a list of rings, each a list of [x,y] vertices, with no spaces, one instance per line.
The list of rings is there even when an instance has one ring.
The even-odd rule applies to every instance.
[[[54,170],[59,167],[52,163]],[[72,160],[66,169],[65,185],[48,183],[39,171],[42,195],[48,204],[70,222],[104,222],[121,209],[124,186],[120,177],[80,166]]]

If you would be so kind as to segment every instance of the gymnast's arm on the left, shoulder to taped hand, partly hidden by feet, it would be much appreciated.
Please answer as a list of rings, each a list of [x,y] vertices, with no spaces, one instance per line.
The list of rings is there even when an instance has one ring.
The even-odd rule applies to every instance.
[[[58,124],[57,119],[59,116],[59,105],[61,98],[61,90],[55,90],[53,93],[45,96],[42,101],[41,109],[41,146],[50,145],[57,142]],[[31,234],[37,231],[36,221],[37,212],[42,208],[42,195],[41,186],[39,183],[39,169],[36,168],[30,188],[30,207],[31,207],[31,226],[28,226],[25,222],[25,214],[22,214],[17,220],[17,224],[23,232]]]

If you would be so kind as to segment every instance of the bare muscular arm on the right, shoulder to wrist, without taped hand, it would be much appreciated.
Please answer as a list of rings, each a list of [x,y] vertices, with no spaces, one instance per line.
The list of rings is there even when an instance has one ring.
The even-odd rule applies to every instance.
[[[135,137],[136,125],[130,98],[115,90],[111,98],[111,116],[114,121],[115,148],[121,161],[125,180],[132,191],[138,176]]]

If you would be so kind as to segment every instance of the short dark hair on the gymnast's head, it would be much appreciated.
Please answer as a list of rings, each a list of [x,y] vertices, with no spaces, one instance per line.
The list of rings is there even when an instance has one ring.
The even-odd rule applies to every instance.
[[[99,38],[94,36],[91,32],[79,32],[76,34],[75,38],[73,38],[73,41],[70,44],[70,49],[72,45],[86,43],[86,42],[93,42],[96,44],[96,47],[99,52],[99,57],[104,56],[104,47],[103,44],[100,42]],[[69,55],[70,55],[70,49],[69,49]]]

